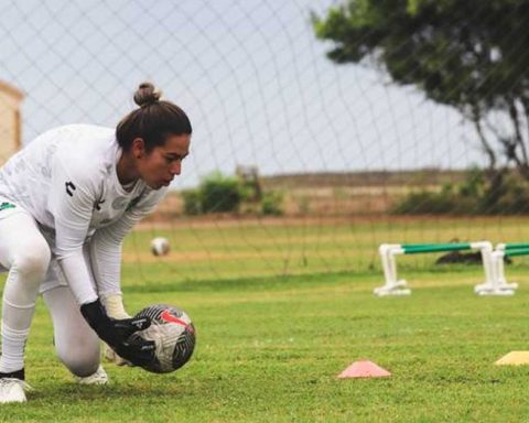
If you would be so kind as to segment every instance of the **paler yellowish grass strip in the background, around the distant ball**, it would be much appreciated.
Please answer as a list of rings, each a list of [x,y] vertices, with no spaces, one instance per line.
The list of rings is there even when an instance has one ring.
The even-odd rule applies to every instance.
[[[147,226],[125,246],[125,259],[136,276],[149,278],[138,263],[158,264],[172,270],[173,280],[231,280],[270,275],[315,274],[337,271],[380,271],[378,246],[382,242],[461,242],[487,239],[493,243],[529,241],[529,218],[462,217],[397,218],[367,217],[330,225],[325,220],[300,219],[289,225],[271,219],[272,225],[223,220],[209,225],[180,223],[159,230]],[[156,235],[171,241],[168,259],[153,262],[149,241]],[[430,269],[441,254],[399,258],[399,268]],[[529,264],[519,258],[517,263]],[[136,264],[136,268],[134,268]]]

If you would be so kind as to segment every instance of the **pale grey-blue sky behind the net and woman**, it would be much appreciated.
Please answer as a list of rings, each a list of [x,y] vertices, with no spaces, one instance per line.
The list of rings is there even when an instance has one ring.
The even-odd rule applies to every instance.
[[[310,13],[333,0],[0,0],[0,80],[25,94],[23,141],[115,127],[143,80],[193,124],[175,187],[214,170],[263,175],[484,163],[454,110],[380,72],[336,65]]]

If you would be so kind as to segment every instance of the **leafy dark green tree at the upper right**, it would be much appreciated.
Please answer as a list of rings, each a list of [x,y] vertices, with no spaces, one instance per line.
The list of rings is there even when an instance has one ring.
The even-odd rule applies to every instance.
[[[375,66],[474,124],[492,204],[508,166],[529,180],[528,1],[348,0],[312,20],[333,62]]]

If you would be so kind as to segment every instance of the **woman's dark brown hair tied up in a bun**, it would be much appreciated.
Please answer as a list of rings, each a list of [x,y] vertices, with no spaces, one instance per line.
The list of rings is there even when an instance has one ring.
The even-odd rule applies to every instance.
[[[116,139],[123,151],[130,150],[132,141],[143,139],[147,152],[163,145],[165,137],[192,133],[191,122],[179,106],[160,100],[161,91],[151,83],[140,84],[134,93],[134,102],[139,106],[118,123]]]

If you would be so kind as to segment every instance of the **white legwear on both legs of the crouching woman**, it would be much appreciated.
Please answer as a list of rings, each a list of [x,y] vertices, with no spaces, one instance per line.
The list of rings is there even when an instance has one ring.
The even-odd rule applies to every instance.
[[[53,321],[60,359],[76,376],[93,375],[100,359],[96,333],[62,280],[61,269],[36,221],[20,206],[2,209],[2,202],[0,198],[0,264],[9,274],[2,297],[0,371],[23,367],[35,301],[42,292]]]

